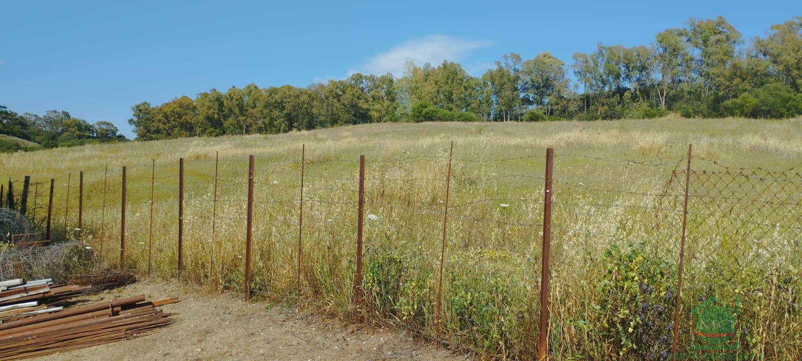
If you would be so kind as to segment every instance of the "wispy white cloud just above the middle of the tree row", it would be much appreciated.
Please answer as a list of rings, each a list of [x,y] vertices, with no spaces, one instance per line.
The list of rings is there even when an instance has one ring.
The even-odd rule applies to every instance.
[[[375,75],[393,73],[395,76],[402,76],[407,61],[418,66],[424,63],[437,66],[443,60],[459,62],[472,51],[489,45],[490,43],[485,41],[459,39],[448,35],[427,35],[407,40],[387,52],[374,55],[367,64],[348,71],[348,74],[357,72]]]

